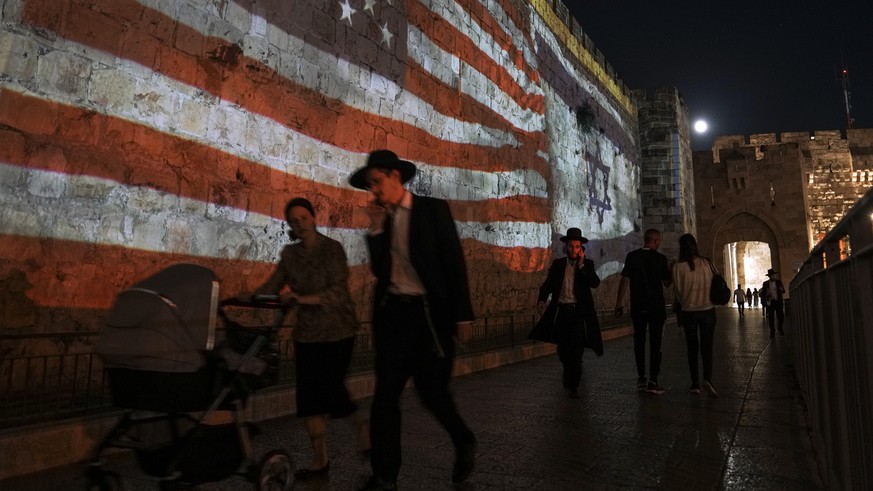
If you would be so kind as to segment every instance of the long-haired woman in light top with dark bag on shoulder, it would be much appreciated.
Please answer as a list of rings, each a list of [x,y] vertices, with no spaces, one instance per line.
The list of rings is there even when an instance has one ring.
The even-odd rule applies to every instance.
[[[718,397],[712,385],[712,344],[716,323],[715,305],[710,300],[713,271],[712,262],[698,253],[694,236],[685,234],[679,237],[679,260],[673,265],[673,290],[682,305],[679,324],[685,331],[688,369],[691,372],[688,391],[700,394],[702,387],[711,397]],[[698,353],[703,360],[702,384]]]

